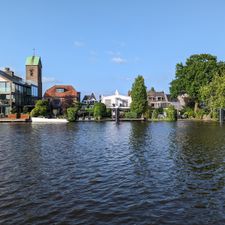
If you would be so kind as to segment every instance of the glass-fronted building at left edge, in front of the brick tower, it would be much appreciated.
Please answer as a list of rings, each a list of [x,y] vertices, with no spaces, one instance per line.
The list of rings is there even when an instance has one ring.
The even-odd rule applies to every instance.
[[[22,112],[23,107],[34,106],[38,99],[38,86],[16,76],[10,68],[0,70],[0,115],[7,116],[14,109]]]

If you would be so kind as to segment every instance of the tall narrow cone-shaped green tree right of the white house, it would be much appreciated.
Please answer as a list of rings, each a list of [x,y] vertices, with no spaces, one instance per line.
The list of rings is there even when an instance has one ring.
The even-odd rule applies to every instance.
[[[138,117],[141,117],[148,106],[147,91],[143,76],[139,75],[135,79],[132,85],[131,98],[131,112],[135,112]]]

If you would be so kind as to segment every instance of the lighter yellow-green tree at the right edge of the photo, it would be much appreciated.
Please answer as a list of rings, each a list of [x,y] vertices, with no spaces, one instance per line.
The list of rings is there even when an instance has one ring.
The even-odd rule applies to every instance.
[[[225,108],[225,73],[222,76],[214,76],[212,82],[200,89],[200,94],[211,113]]]

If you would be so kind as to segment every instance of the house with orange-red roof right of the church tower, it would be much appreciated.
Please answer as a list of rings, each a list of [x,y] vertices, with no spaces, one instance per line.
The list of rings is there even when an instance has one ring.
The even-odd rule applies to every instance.
[[[71,85],[55,85],[45,92],[44,99],[60,114],[73,103],[80,102],[80,92]]]

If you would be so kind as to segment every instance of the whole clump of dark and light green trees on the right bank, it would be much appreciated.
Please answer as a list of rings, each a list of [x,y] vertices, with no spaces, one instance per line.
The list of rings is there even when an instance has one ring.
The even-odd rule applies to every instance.
[[[184,93],[189,96],[185,113],[214,117],[219,108],[225,107],[225,62],[210,54],[190,56],[184,64],[176,65],[170,93],[172,97]]]

